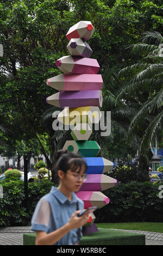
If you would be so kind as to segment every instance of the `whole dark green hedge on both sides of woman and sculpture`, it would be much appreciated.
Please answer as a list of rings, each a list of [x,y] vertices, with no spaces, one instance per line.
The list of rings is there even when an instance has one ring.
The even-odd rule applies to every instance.
[[[0,198],[0,225],[30,225],[36,203],[47,194],[53,183],[40,181],[28,184],[28,208],[24,207],[22,180],[2,180],[3,198]],[[158,197],[159,186],[152,182],[118,184],[103,193],[110,203],[95,211],[95,223],[107,222],[163,222],[163,198]]]

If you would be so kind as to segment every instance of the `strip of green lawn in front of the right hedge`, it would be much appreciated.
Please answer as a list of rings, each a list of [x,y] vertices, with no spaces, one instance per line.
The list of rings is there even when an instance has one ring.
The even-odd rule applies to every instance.
[[[163,233],[162,222],[95,223],[97,228],[115,228]]]

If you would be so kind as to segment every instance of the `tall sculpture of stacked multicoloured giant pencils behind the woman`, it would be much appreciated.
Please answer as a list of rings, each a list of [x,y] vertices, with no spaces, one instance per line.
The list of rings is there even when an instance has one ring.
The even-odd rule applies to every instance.
[[[92,124],[99,123],[101,118],[99,107],[103,101],[103,80],[97,74],[99,64],[96,59],[90,58],[92,49],[86,42],[94,31],[90,21],[80,21],[68,30],[67,49],[71,55],[61,57],[56,62],[63,74],[47,80],[48,86],[59,90],[47,97],[47,103],[64,108],[58,120],[65,125],[73,125],[73,140],[66,141],[63,149],[82,155],[87,163],[87,180],[77,192],[85,209],[91,206],[99,209],[108,204],[109,198],[102,191],[117,185],[117,180],[104,174],[114,168],[114,163],[97,157],[101,148],[96,141],[89,140]],[[94,221],[95,215],[92,214],[85,225],[84,234],[98,231]]]

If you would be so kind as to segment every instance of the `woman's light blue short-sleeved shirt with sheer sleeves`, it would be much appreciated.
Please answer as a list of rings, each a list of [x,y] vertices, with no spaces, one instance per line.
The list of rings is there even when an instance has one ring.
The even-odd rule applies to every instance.
[[[51,233],[61,228],[77,210],[77,202],[79,210],[83,212],[84,203],[74,192],[72,192],[72,200],[69,201],[57,187],[52,187],[51,191],[37,203],[31,221],[31,229]],[[78,228],[71,230],[54,245],[76,245],[78,242],[77,233]],[[82,232],[80,232],[80,236],[82,236]]]

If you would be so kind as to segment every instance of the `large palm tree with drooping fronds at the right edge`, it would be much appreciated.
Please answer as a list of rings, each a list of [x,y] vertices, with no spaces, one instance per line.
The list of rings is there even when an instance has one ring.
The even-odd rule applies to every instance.
[[[127,77],[126,84],[118,93],[117,100],[135,95],[137,113],[130,121],[129,135],[141,133],[139,156],[150,158],[150,145],[155,144],[163,124],[163,38],[159,32],[143,33],[142,42],[130,45],[134,54],[140,54],[141,60],[127,66],[119,77]],[[143,95],[143,96],[141,96]]]

